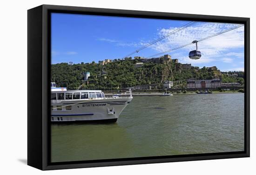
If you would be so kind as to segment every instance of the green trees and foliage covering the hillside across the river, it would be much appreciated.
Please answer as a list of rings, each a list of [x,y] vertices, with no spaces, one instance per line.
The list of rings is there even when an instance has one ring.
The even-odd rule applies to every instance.
[[[157,84],[157,88],[162,88],[164,81],[176,81],[175,88],[185,88],[187,79],[221,78],[220,71],[211,71],[205,67],[182,69],[181,63],[148,62],[144,63],[142,67],[136,68],[135,64],[138,62],[140,60],[132,60],[131,57],[127,57],[124,60],[115,59],[112,63],[107,63],[104,66],[95,62],[72,65],[52,64],[51,78],[59,87],[101,90],[117,90],[144,84]],[[84,81],[85,72],[90,72],[88,83]],[[238,81],[242,82],[243,78]]]

